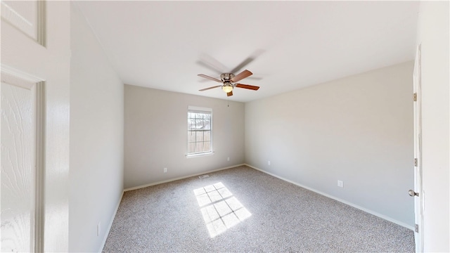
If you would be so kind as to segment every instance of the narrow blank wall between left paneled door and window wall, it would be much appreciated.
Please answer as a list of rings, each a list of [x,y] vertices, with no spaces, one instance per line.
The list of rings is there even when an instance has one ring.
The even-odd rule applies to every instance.
[[[70,28],[69,250],[99,252],[123,192],[124,85],[73,3]]]

